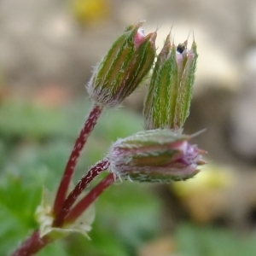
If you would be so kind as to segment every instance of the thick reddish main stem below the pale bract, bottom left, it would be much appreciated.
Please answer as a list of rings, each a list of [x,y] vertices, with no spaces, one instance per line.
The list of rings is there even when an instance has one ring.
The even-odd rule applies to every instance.
[[[26,239],[20,247],[12,254],[12,256],[30,256],[38,253],[49,242],[52,241],[47,236],[40,237],[39,231],[36,230],[32,233],[32,236]]]

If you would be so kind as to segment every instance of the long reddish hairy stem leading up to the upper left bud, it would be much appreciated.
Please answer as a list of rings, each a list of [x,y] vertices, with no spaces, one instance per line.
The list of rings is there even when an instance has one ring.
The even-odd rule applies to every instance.
[[[67,161],[67,166],[62,176],[61,183],[55,197],[55,204],[54,204],[55,214],[57,214],[57,212],[60,211],[61,206],[65,201],[65,198],[67,195],[67,189],[71,181],[71,178],[73,177],[74,168],[77,165],[79,155],[82,149],[84,148],[84,144],[86,143],[86,140],[90,135],[90,132],[93,130],[94,126],[96,125],[96,121],[99,118],[101,113],[102,113],[102,107],[98,105],[94,105],[93,108],[90,110],[89,116],[84,123],[83,129],[80,131],[80,134],[76,140],[76,143],[73,146],[73,151],[70,154],[70,157]]]

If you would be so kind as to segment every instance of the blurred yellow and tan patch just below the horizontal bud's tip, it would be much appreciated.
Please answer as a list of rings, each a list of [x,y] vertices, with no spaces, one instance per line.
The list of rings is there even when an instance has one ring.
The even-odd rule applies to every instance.
[[[172,188],[191,218],[202,224],[227,214],[229,191],[236,183],[234,170],[208,165],[194,178],[186,182],[173,183]]]

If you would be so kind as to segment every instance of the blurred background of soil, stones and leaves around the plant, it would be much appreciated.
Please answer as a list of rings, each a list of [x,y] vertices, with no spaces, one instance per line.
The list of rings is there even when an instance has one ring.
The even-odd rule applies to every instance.
[[[68,236],[38,255],[256,254],[256,3],[253,0],[0,1],[0,254],[37,228],[42,188],[54,198],[90,108],[84,84],[124,27],[147,20],[182,43],[195,34],[195,96],[184,132],[206,149],[195,178],[118,183],[96,202],[91,241]],[[108,110],[73,182],[112,141],[143,130],[147,84]],[[88,149],[90,148],[90,150]]]

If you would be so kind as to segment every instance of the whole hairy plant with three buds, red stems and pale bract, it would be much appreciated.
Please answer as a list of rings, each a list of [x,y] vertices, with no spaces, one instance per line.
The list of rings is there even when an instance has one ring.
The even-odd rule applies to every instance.
[[[172,36],[156,54],[156,32],[145,35],[143,22],[127,26],[102,58],[86,85],[92,107],[67,160],[53,205],[43,198],[36,218],[38,230],[20,244],[13,256],[38,253],[49,242],[79,232],[88,236],[93,214],[90,205],[116,180],[170,183],[186,180],[200,172],[206,152],[190,143],[183,134],[192,98],[197,46],[195,39],[174,44]],[[148,76],[148,95],[144,101],[145,131],[113,143],[106,157],[84,173],[71,192],[68,191],[79,155],[97,119],[106,108],[119,106]],[[82,196],[90,182],[101,172],[107,177]],[[139,185],[139,184],[138,184]]]

